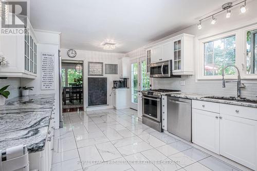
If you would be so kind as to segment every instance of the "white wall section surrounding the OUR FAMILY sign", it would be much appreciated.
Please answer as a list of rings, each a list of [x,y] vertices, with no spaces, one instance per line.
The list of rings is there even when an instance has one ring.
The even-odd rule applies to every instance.
[[[54,117],[54,127],[59,128],[59,48],[60,48],[60,33],[49,32],[43,30],[36,30],[36,39],[38,40],[37,45],[37,77],[36,79],[21,79],[22,86],[33,86],[33,91],[29,91],[29,94],[55,94],[55,108],[56,117]],[[49,39],[48,39],[49,38]],[[48,42],[47,42],[48,40]],[[41,54],[42,52],[54,53],[54,89],[53,90],[41,90]]]

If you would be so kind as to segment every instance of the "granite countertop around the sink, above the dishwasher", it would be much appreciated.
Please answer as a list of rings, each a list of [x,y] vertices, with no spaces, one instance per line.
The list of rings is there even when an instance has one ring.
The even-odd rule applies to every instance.
[[[167,96],[176,97],[176,98],[184,98],[184,99],[192,99],[192,100],[201,100],[201,101],[208,101],[208,102],[216,102],[216,103],[225,103],[225,104],[232,104],[238,106],[247,106],[247,107],[257,107],[257,103],[248,103],[248,102],[238,102],[233,100],[219,100],[219,99],[209,99],[204,97],[212,97],[212,95],[206,94],[195,94],[195,93],[175,93],[175,94],[168,94]],[[215,97],[215,96],[214,96]],[[257,100],[257,99],[253,99]]]

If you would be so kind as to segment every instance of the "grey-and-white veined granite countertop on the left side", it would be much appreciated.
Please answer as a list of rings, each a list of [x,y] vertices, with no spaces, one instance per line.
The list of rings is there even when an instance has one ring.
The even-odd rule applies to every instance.
[[[28,145],[29,153],[44,149],[54,94],[17,97],[0,106],[0,150]]]

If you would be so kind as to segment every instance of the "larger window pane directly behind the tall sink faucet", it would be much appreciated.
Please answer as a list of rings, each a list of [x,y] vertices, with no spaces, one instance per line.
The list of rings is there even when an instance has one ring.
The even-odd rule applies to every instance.
[[[204,43],[205,75],[222,75],[227,65],[235,65],[235,35]],[[226,74],[235,74],[235,69],[228,67]]]

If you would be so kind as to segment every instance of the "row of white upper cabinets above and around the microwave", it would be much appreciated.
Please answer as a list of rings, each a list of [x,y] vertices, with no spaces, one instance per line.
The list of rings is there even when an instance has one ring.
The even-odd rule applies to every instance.
[[[194,35],[180,34],[146,48],[148,64],[146,73],[150,72],[150,64],[168,60],[173,61],[173,74],[192,75],[194,73]]]

